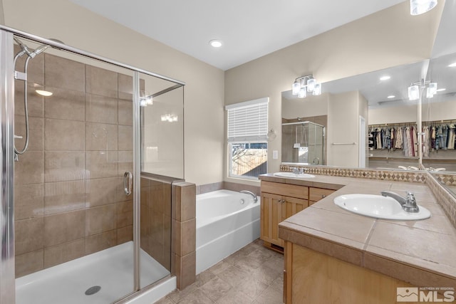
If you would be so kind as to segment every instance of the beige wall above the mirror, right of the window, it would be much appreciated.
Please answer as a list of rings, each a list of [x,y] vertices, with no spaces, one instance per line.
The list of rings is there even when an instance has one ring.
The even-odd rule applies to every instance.
[[[225,73],[225,104],[269,97],[269,127],[280,130],[281,92],[296,77],[313,73],[323,82],[430,57],[443,5],[410,16],[408,1],[281,49]],[[277,132],[269,151],[280,150]],[[269,172],[280,159],[269,153]]]

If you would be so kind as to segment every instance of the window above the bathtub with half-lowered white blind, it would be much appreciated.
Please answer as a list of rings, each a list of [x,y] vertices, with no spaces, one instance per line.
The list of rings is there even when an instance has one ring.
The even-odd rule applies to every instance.
[[[268,101],[227,105],[229,177],[257,179],[267,173]]]

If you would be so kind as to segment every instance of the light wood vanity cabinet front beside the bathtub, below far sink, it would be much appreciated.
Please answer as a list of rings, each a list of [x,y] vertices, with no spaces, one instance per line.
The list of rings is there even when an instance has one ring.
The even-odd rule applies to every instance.
[[[261,181],[260,238],[264,245],[283,251],[279,223],[309,206],[309,187]]]

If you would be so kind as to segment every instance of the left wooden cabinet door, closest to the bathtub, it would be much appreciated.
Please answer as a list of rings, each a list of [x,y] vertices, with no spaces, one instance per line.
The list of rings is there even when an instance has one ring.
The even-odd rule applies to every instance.
[[[277,246],[284,246],[279,239],[279,223],[282,221],[282,196],[261,193],[261,239]]]

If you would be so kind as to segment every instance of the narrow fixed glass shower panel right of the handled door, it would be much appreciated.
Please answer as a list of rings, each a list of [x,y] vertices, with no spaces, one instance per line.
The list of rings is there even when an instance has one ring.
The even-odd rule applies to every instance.
[[[140,73],[140,287],[172,272],[172,183],[184,177],[184,88]]]

